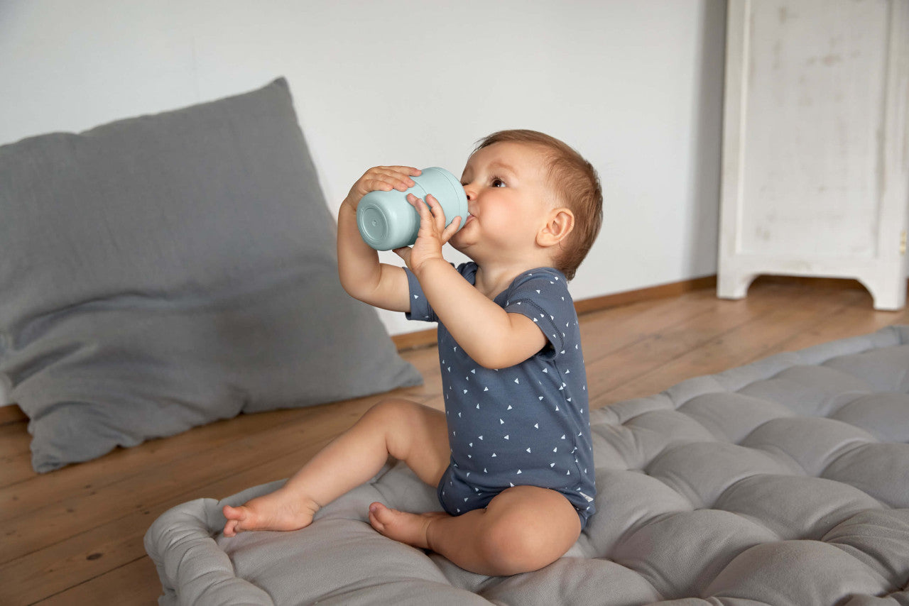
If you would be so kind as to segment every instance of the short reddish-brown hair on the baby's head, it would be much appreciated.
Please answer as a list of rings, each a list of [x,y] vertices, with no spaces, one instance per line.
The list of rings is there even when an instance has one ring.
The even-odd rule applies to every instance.
[[[549,164],[549,183],[561,202],[574,213],[574,229],[566,241],[560,243],[562,253],[554,260],[555,269],[571,280],[603,224],[603,192],[594,166],[555,137],[525,129],[498,131],[485,136],[476,143],[474,154],[497,143],[530,144],[543,149]]]

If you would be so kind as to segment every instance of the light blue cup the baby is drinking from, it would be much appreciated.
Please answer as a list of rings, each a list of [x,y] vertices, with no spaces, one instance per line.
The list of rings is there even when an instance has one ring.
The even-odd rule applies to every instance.
[[[418,177],[411,177],[415,185],[405,192],[370,192],[363,196],[356,207],[356,226],[365,243],[377,251],[390,251],[416,242],[420,231],[420,214],[407,202],[407,194],[421,200],[433,194],[445,211],[445,224],[454,217],[461,217],[461,226],[467,220],[467,194],[461,180],[444,168],[433,166],[423,169]]]

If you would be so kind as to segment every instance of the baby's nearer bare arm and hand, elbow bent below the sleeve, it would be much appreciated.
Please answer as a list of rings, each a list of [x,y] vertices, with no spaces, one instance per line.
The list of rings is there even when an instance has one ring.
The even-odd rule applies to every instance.
[[[445,214],[432,195],[426,196],[432,213],[425,204],[408,199],[420,213],[420,232],[413,248],[395,253],[414,272],[435,315],[464,352],[486,368],[507,368],[543,349],[548,341],[533,320],[505,312],[442,257],[442,245],[457,230],[457,219],[445,228]]]

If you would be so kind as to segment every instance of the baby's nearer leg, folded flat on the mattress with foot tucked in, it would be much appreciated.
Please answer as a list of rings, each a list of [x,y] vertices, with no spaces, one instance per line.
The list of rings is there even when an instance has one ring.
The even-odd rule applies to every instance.
[[[373,503],[369,520],[387,537],[489,575],[541,569],[562,557],[581,533],[574,505],[559,492],[535,486],[509,488],[486,509],[456,517],[415,515]]]

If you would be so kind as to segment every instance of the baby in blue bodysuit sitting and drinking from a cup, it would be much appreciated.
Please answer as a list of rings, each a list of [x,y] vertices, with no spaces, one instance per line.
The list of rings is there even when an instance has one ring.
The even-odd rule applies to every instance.
[[[379,166],[360,177],[338,214],[338,265],[355,298],[439,323],[445,412],[379,402],[282,488],[225,506],[225,536],[303,528],[390,454],[437,487],[445,512],[374,502],[376,531],[468,571],[534,571],[564,555],[594,512],[584,360],[566,282],[600,229],[599,181],[553,137],[491,134],[464,167],[467,216],[446,227],[432,195],[408,195],[420,230],[413,247],[395,250],[406,269],[379,263],[356,206],[374,190],[405,191],[419,174]],[[473,263],[445,262],[446,242]]]

